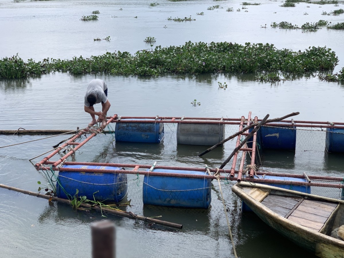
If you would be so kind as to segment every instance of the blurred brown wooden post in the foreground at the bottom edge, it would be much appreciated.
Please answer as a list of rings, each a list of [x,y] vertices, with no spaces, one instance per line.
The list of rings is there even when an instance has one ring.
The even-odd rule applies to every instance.
[[[109,220],[91,225],[92,258],[115,258],[115,225]]]

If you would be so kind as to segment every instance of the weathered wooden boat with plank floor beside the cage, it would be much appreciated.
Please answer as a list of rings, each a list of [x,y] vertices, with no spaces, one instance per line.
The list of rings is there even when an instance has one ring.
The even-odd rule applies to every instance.
[[[344,201],[250,182],[237,183],[232,191],[295,244],[319,257],[344,257],[344,241],[330,236],[344,225]]]

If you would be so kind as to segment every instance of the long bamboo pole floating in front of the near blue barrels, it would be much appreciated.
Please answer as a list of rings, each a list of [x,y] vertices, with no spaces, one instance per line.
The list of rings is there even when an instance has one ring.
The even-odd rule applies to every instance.
[[[71,203],[71,201],[68,199],[49,196],[49,195],[45,195],[45,194],[41,194],[41,193],[35,193],[35,192],[19,189],[19,188],[4,185],[4,184],[0,184],[0,187],[4,188],[4,189],[15,191],[15,192],[23,193],[23,194],[28,194],[31,196],[41,197],[41,198],[48,199],[48,200],[51,199],[52,201],[56,201],[56,202],[62,202],[62,203],[67,203],[67,204]],[[115,214],[115,215],[122,216],[122,217],[139,219],[141,221],[153,222],[156,224],[174,227],[174,228],[182,228],[183,227],[183,225],[180,225],[180,224],[176,224],[176,223],[172,223],[172,222],[168,222],[168,221],[161,221],[160,219],[155,219],[155,218],[150,218],[150,217],[144,217],[144,216],[136,215],[132,212],[124,212],[124,211],[117,211],[117,210],[109,209],[109,208],[101,208],[98,205],[90,205],[90,204],[82,203],[82,204],[80,204],[80,207],[94,209],[95,211],[103,211],[106,213],[111,213],[111,214]]]

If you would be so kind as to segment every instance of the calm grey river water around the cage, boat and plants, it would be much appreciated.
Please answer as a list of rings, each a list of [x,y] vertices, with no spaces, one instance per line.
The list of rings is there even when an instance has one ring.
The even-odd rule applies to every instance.
[[[283,8],[279,7],[280,1],[262,0],[259,1],[260,6],[241,9],[241,1],[236,0],[164,0],[157,1],[158,6],[150,7],[151,2],[0,0],[0,58],[16,53],[24,60],[33,58],[36,61],[46,57],[89,57],[106,51],[129,51],[133,54],[150,49],[150,44],[143,40],[152,36],[157,40],[154,46],[182,45],[189,40],[230,41],[272,43],[279,49],[298,51],[313,45],[326,45],[340,59],[335,72],[344,66],[343,31],[321,29],[302,33],[301,30],[270,28],[274,21],[288,21],[299,26],[320,19],[343,22],[344,14],[321,15],[323,11],[343,9],[342,3],[338,7],[300,3],[294,8]],[[223,8],[207,10],[216,4]],[[233,7],[234,12],[226,12],[229,7]],[[94,10],[100,12],[98,21],[80,21],[82,15],[90,15]],[[204,15],[196,15],[200,12]],[[190,15],[196,21],[167,20],[168,17]],[[265,24],[267,28],[261,28]],[[106,36],[111,40],[93,40]],[[255,82],[252,75],[240,74],[167,74],[151,78],[51,73],[0,81],[1,129],[74,130],[78,126],[85,127],[90,117],[83,111],[83,97],[87,83],[93,78],[102,78],[108,84],[111,103],[108,114],[239,118],[247,117],[252,111],[252,115],[259,118],[266,114],[274,118],[299,111],[300,115],[294,118],[296,120],[343,122],[344,85],[321,82],[316,73],[273,85]],[[228,88],[219,89],[218,82],[226,82]],[[194,99],[201,105],[192,106]],[[226,127],[226,135],[236,129]],[[229,141],[223,148],[199,158],[197,153],[205,148],[177,145],[175,131],[174,125],[165,125],[165,140],[158,147],[120,144],[112,142],[112,135],[98,135],[80,148],[76,160],[138,164],[157,161],[160,165],[204,167],[207,164],[216,167],[227,158],[235,144]],[[302,137],[297,143],[298,150],[318,141],[318,136]],[[0,147],[42,137],[0,136]],[[37,181],[45,180],[28,160],[51,150],[51,146],[65,138],[57,136],[0,148],[0,183],[37,191]],[[341,175],[344,169],[342,156],[326,156],[319,148],[314,152],[296,151],[283,156],[267,153],[263,163],[266,169],[276,172]],[[135,185],[138,181],[142,185],[143,178],[137,181],[132,177],[129,179],[129,190],[132,191],[128,198],[135,205],[128,207],[127,211],[144,216],[162,215],[163,220],[183,224],[183,229],[108,215],[116,225],[117,257],[234,257],[216,182],[213,182],[211,208],[199,211],[142,207],[142,190]],[[255,215],[242,214],[240,201],[230,192],[230,185],[224,185],[223,190],[239,257],[310,257],[261,223]],[[4,189],[0,189],[0,197],[1,257],[91,257],[90,225],[102,219],[99,213],[75,212],[67,205],[49,204],[41,198]]]

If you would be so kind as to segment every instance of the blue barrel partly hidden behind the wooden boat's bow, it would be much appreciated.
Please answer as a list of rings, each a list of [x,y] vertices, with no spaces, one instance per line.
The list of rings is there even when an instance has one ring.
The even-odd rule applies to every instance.
[[[254,176],[255,179],[262,179],[262,176]],[[283,181],[294,181],[294,182],[307,182],[304,178],[290,178],[288,176],[272,176],[272,175],[265,175],[264,179],[270,179],[270,180],[283,180]],[[272,184],[272,183],[259,183],[259,184],[266,184],[270,186],[280,187],[283,189],[289,189],[293,191],[298,191],[301,193],[311,193],[311,187],[306,185],[291,185],[291,184]],[[252,210],[244,203],[242,202],[241,209],[245,212],[251,212]]]

